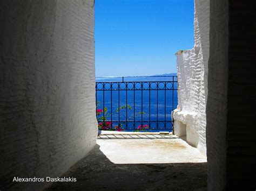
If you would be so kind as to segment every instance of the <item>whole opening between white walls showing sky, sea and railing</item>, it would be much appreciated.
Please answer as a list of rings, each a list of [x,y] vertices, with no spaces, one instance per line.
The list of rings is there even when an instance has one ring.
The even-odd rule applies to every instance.
[[[193,46],[193,1],[96,1],[95,26],[99,131],[172,133],[174,53]]]

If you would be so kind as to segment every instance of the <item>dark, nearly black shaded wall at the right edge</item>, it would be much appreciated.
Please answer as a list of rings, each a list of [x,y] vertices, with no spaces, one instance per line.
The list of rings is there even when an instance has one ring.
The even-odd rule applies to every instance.
[[[208,190],[255,190],[255,7],[212,0],[206,107]]]

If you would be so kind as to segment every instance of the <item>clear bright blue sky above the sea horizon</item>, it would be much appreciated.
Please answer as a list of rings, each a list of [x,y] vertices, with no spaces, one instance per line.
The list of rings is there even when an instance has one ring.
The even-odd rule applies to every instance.
[[[176,72],[193,47],[193,0],[96,0],[96,76]]]

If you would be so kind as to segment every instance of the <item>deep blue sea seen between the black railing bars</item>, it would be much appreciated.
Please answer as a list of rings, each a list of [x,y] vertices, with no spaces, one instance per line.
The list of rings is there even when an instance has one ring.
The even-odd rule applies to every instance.
[[[172,81],[172,77],[144,77],[143,79],[129,79],[129,81]],[[176,81],[177,78],[174,80]],[[97,82],[102,81],[120,81],[120,79],[107,79],[107,80],[97,80]],[[121,81],[122,82],[122,81]],[[101,84],[99,84],[100,86]],[[105,84],[108,86],[109,84]],[[146,86],[147,84],[145,84]],[[159,83],[159,88],[163,84]],[[167,88],[177,89],[177,82],[168,83]],[[108,121],[132,121],[127,123],[127,129],[133,129],[133,121],[137,121],[135,124],[136,127],[140,124],[149,124],[149,121],[155,122],[160,121],[160,123],[151,123],[152,129],[171,129],[172,128],[172,111],[177,108],[178,98],[177,98],[177,90],[136,90],[134,91],[132,88],[132,84],[128,84],[128,89],[131,90],[103,90],[97,91],[97,107],[98,109],[107,108],[106,118]],[[138,84],[138,89],[141,89],[140,84]],[[153,85],[152,85],[153,86]],[[125,84],[120,84],[121,89],[125,89]],[[98,87],[101,89],[101,87]],[[108,89],[108,88],[106,88]],[[109,88],[110,89],[110,88]],[[114,89],[114,88],[112,88]],[[147,89],[147,88],[145,88]],[[164,89],[164,88],[163,88]],[[104,101],[103,101],[104,94]],[[111,103],[111,94],[112,94],[112,103]],[[126,96],[127,94],[127,96]],[[158,94],[158,95],[157,95]],[[127,102],[126,102],[127,98]],[[129,108],[120,109],[117,112],[117,109],[120,107],[127,105]],[[143,112],[139,114],[139,112]],[[112,114],[112,118],[111,115]],[[99,117],[99,116],[98,116]],[[167,121],[167,123],[164,123]],[[115,124],[116,123],[116,124]],[[118,122],[113,122],[113,126],[118,125]]]

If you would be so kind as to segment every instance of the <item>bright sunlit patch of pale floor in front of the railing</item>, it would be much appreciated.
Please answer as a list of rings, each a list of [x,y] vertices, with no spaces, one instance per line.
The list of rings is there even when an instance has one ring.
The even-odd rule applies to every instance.
[[[169,139],[98,139],[97,144],[114,164],[206,162],[196,148],[174,136]]]

